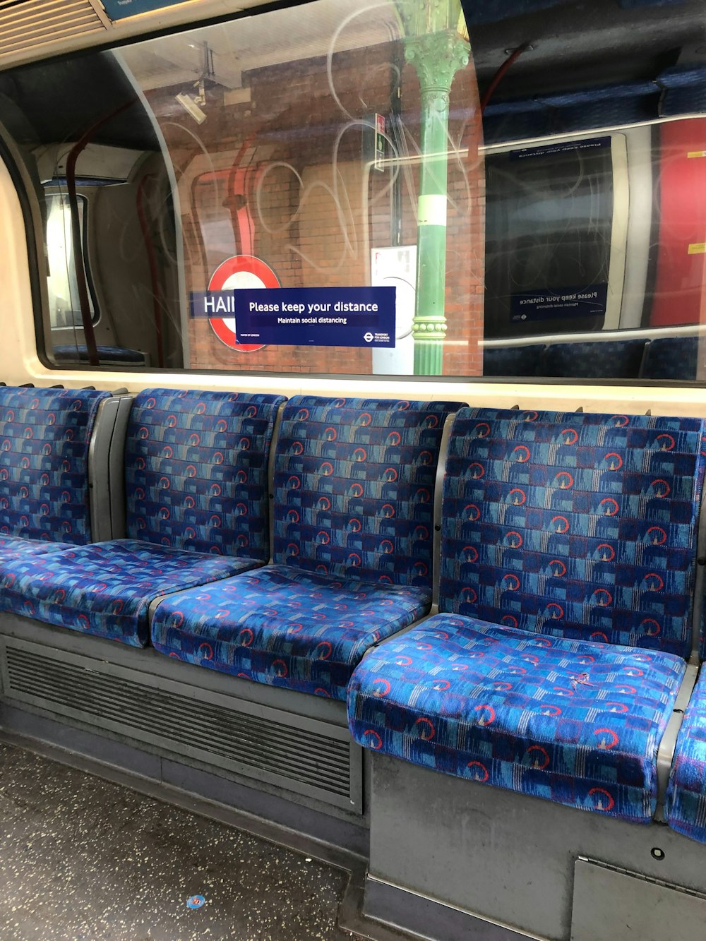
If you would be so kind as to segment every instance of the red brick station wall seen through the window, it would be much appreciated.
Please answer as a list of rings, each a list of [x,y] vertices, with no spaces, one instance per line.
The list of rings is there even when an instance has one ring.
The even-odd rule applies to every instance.
[[[391,42],[334,56],[338,102],[328,84],[326,62],[316,58],[250,72],[249,104],[226,105],[223,89],[209,92],[208,119],[196,125],[174,102],[175,88],[149,93],[179,180],[185,239],[187,291],[204,290],[214,266],[235,253],[223,245],[221,258],[206,263],[196,221],[191,215],[194,167],[233,165],[244,141],[252,137],[249,206],[254,226],[254,254],[277,274],[282,286],[358,286],[369,283],[370,249],[391,245],[391,170],[371,172],[367,212],[361,159],[361,120],[391,110],[393,65],[404,62],[400,43]],[[477,147],[481,142],[478,96],[470,64],[458,72],[451,93],[449,136],[468,156],[449,160],[446,315],[446,375],[481,375],[477,342],[483,335],[483,263],[485,172]],[[342,110],[343,109],[343,110]],[[401,80],[401,117],[409,152],[419,143],[419,82],[406,65]],[[180,126],[181,125],[181,126]],[[347,126],[346,126],[347,125]],[[342,128],[345,133],[338,139]],[[189,134],[191,132],[191,134]],[[402,244],[416,242],[417,171],[402,175]],[[214,201],[208,187],[201,199]],[[204,208],[207,208],[204,205]],[[217,206],[212,209],[219,212]],[[229,218],[222,207],[222,219]],[[367,375],[369,349],[267,346],[254,353],[221,343],[205,320],[189,321],[190,362],[194,369],[252,369],[278,373]]]

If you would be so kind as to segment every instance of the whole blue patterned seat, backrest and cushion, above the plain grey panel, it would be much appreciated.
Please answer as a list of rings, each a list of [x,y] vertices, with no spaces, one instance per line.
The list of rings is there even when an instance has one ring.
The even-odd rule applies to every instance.
[[[356,668],[356,741],[649,821],[691,647],[703,433],[700,419],[462,409],[442,614]]]

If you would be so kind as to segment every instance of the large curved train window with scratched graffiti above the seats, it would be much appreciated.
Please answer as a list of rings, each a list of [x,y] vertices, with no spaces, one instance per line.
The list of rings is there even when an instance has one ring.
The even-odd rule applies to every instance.
[[[0,73],[90,220],[59,286],[43,213],[48,358],[706,378],[698,0],[466,12],[313,0]]]

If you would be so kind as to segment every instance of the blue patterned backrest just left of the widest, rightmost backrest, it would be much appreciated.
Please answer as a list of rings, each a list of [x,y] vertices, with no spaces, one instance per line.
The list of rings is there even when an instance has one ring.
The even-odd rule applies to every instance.
[[[459,407],[290,399],[275,457],[274,561],[429,585],[441,433]]]

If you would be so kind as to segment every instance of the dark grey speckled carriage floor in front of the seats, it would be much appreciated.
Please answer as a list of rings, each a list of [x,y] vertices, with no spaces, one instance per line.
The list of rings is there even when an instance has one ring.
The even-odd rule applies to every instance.
[[[2,941],[350,941],[346,878],[0,742]]]

